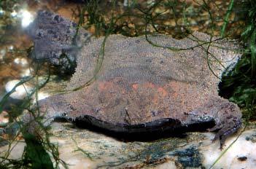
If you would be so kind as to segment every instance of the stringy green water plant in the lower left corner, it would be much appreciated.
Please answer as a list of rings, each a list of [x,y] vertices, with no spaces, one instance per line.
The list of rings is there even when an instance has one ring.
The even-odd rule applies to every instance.
[[[9,113],[9,123],[7,127],[4,128],[4,133],[12,135],[9,142],[9,149],[6,152],[0,154],[0,168],[59,168],[59,165],[63,165],[67,168],[65,162],[59,159],[58,145],[52,144],[50,142],[49,128],[44,127],[42,123],[42,116],[39,115],[38,106],[38,91],[44,87],[50,79],[50,71],[48,76],[43,82],[39,82],[38,71],[41,69],[40,64],[36,66],[36,73],[33,76],[21,79],[18,84],[0,101],[0,110],[2,111],[4,104],[7,103],[9,96],[15,92],[15,88],[23,85],[25,82],[36,82],[34,89],[27,93],[26,98],[18,104],[12,106],[12,109],[8,111]],[[49,69],[50,70],[50,69]],[[36,98],[36,103],[33,105],[33,95]],[[0,111],[0,112],[1,112]],[[24,122],[22,115],[24,113],[31,114],[33,117],[31,122]],[[21,116],[21,117],[20,117]],[[31,132],[31,127],[36,127],[36,133]],[[38,134],[39,133],[39,134]],[[23,141],[18,139],[18,135],[23,135]],[[13,148],[24,142],[26,146],[24,147],[22,157],[13,160],[9,157]]]

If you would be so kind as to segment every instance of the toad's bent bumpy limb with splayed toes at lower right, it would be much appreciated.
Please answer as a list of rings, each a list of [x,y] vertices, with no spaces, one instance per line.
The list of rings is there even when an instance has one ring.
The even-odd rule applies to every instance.
[[[214,97],[200,108],[186,114],[185,124],[193,122],[207,122],[214,119],[215,125],[208,131],[217,131],[212,141],[220,140],[220,149],[225,144],[226,138],[241,127],[241,111],[235,103],[225,98]]]

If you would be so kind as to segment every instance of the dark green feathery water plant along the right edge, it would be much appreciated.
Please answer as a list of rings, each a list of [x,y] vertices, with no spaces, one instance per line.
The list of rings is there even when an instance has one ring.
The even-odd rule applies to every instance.
[[[236,66],[229,68],[222,76],[220,95],[229,98],[244,108],[247,119],[255,119],[256,109],[256,1],[238,2],[239,19],[244,20],[241,42],[244,54]],[[230,70],[231,69],[231,70]]]

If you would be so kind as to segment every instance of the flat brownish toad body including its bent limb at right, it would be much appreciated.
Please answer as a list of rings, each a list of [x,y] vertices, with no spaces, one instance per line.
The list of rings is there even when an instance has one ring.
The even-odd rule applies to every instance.
[[[193,36],[209,41],[206,34]],[[219,138],[222,148],[225,138],[241,127],[241,111],[218,95],[219,79],[209,66],[220,76],[224,68],[214,57],[226,61],[228,66],[238,55],[210,47],[214,57],[209,56],[207,62],[205,46],[195,47],[198,39],[150,36],[152,42],[163,46],[193,47],[193,50],[172,51],[153,47],[144,36],[109,36],[96,80],[88,87],[40,101],[41,109],[47,112],[46,118],[63,115],[123,133],[173,130],[214,120],[216,125],[209,131],[217,130],[214,140]],[[97,39],[82,49],[69,89],[91,79],[102,41]]]

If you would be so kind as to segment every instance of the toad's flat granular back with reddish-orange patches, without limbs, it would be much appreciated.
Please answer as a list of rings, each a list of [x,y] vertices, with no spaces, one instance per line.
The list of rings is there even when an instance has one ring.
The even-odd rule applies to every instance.
[[[205,34],[198,36],[209,40]],[[71,107],[68,117],[88,115],[114,125],[139,125],[165,118],[186,121],[185,114],[218,97],[218,80],[212,71],[220,75],[221,66],[213,57],[207,60],[203,48],[197,47],[198,39],[149,39],[165,47],[193,50],[154,47],[144,36],[109,36],[103,63],[95,74],[103,38],[91,42],[79,55],[69,87],[79,87],[93,76],[96,79],[88,87],[61,96]],[[210,52],[220,60],[224,55],[234,57],[225,50],[211,48]]]

